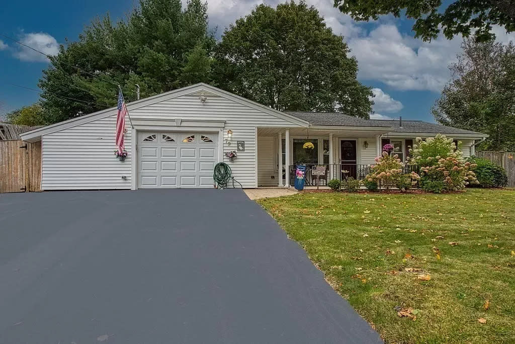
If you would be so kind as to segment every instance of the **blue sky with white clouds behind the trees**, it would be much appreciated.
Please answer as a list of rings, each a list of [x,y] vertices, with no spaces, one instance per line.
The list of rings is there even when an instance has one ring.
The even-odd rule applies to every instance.
[[[262,0],[208,0],[210,24],[224,28],[240,16],[248,14]],[[356,56],[358,79],[374,89],[377,118],[422,119],[434,122],[430,108],[440,90],[450,78],[448,65],[459,53],[461,38],[451,41],[439,37],[431,43],[413,38],[406,19],[385,16],[378,22],[354,22],[332,7],[332,0],[307,0],[324,16],[335,33],[343,35]],[[271,6],[277,0],[266,1]],[[113,20],[122,18],[134,6],[131,0],[89,0],[70,2],[6,2],[0,14],[0,33],[28,45],[55,51],[65,39],[76,40],[85,25],[95,16],[109,12]],[[500,41],[511,35],[496,29]],[[10,83],[37,88],[41,71],[46,68],[44,57],[0,37],[0,114],[30,105],[38,93],[13,87]]]

